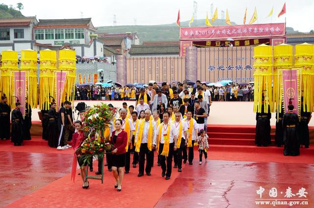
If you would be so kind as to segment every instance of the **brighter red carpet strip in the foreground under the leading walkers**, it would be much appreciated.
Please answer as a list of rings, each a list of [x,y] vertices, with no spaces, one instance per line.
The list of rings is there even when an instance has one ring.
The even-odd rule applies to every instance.
[[[18,153],[15,153],[19,155]],[[34,155],[35,156],[35,155]],[[72,157],[71,157],[72,158]],[[68,159],[68,162],[70,157]],[[157,160],[157,158],[155,159]],[[31,161],[30,161],[31,162]],[[72,161],[71,161],[72,162]],[[35,165],[35,164],[34,164]],[[30,171],[37,171],[41,166],[38,164],[37,168],[33,168]],[[19,167],[13,167],[10,172],[14,172]],[[54,172],[55,169],[49,164],[42,164],[41,168],[47,168],[47,174]],[[69,164],[64,166],[69,173]],[[137,207],[137,208],[151,208],[154,207],[158,199],[167,190],[167,188],[174,182],[175,178],[179,175],[177,171],[173,171],[171,179],[166,181],[161,177],[161,168],[155,165],[152,170],[152,176],[137,177],[138,167],[132,168],[129,174],[125,174],[124,181],[122,183],[122,192],[118,193],[117,189],[114,189],[115,180],[112,176],[112,172],[105,170],[105,181],[101,184],[100,181],[89,180],[90,188],[82,189],[80,176],[76,177],[76,182],[71,181],[70,174],[62,177],[61,179],[54,181],[43,188],[27,195],[16,202],[10,204],[7,207],[95,207],[103,208],[107,206],[113,207]],[[173,169],[174,170],[174,169]],[[177,169],[175,169],[177,170]],[[15,180],[23,180],[22,178],[7,177],[9,183],[13,183]],[[26,179],[27,180],[27,179]],[[35,181],[34,181],[35,180]],[[34,178],[29,183],[36,184],[37,180],[41,180],[40,177]],[[33,190],[34,191],[34,190]],[[16,195],[14,198],[18,198],[18,190],[14,190],[11,195]],[[25,192],[24,192],[25,193]],[[2,198],[2,195],[1,195]],[[82,200],[86,199],[86,200]],[[0,200],[3,201],[3,200]]]

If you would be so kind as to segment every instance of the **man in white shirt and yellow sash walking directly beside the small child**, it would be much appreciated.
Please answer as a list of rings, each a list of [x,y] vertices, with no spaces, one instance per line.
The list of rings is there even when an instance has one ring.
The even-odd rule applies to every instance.
[[[188,164],[192,165],[193,164],[193,159],[194,159],[194,142],[195,139],[197,138],[198,134],[198,124],[195,119],[192,118],[193,112],[187,111],[186,114],[186,119],[184,121],[186,122],[187,125],[187,148],[188,148]],[[183,163],[185,163],[186,160],[183,160]]]

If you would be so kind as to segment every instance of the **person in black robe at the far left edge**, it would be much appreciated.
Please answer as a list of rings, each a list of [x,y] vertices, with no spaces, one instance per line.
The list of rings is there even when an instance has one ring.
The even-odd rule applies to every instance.
[[[1,96],[0,102],[0,139],[10,138],[10,113],[11,109],[8,104],[6,104],[7,98],[5,94]]]

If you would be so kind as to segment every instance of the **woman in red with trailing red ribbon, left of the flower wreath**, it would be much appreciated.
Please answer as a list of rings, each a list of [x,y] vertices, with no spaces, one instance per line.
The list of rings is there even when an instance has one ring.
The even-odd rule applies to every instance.
[[[84,141],[85,135],[84,135],[84,131],[82,130],[82,123],[80,121],[76,121],[74,125],[75,125],[77,132],[75,132],[73,134],[73,138],[72,138],[74,157],[73,157],[73,164],[72,164],[72,177],[71,177],[71,179],[73,178],[73,181],[75,180],[76,170],[77,170],[77,161],[78,161],[78,165],[80,166],[80,176],[82,177],[82,181],[83,181],[82,188],[88,188],[89,182],[88,181],[85,182],[87,162],[84,163],[75,154],[75,152],[78,150],[82,141]]]

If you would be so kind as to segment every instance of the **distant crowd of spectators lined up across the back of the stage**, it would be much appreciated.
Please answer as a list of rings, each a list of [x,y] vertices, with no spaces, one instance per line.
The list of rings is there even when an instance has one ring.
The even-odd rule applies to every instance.
[[[155,83],[152,88],[156,91],[160,89],[160,86]],[[176,91],[179,97],[183,99],[184,90],[188,91],[189,98],[191,93],[196,93],[198,87],[202,87],[207,94],[210,94],[212,101],[254,101],[254,85],[239,85],[237,83],[229,84],[226,86],[216,87],[209,86],[207,83],[201,83],[201,81],[196,81],[196,86],[189,84],[188,82],[172,82],[170,86],[169,83],[163,82],[170,95]],[[149,90],[149,86],[144,87],[145,90]],[[136,96],[139,94],[141,88],[135,86],[123,86],[123,87],[102,87],[97,85],[86,85],[76,87],[75,100],[103,100],[103,101],[128,101],[135,100]],[[152,99],[153,100],[153,99]]]

